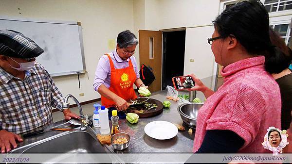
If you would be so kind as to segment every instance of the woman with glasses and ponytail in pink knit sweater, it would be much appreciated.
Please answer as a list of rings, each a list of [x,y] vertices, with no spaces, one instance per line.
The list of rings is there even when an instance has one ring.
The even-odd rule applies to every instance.
[[[282,71],[283,53],[269,38],[269,16],[261,2],[242,1],[224,10],[208,38],[225,77],[217,92],[195,76],[190,90],[207,98],[201,107],[193,151],[264,153],[267,129],[281,128],[281,96],[271,73]],[[282,69],[282,70],[281,70]]]

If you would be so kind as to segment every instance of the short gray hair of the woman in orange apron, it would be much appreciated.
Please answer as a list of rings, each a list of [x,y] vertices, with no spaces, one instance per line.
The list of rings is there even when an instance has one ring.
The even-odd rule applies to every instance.
[[[138,39],[134,35],[134,33],[131,33],[129,30],[123,31],[118,34],[117,38],[117,44],[120,48],[127,48],[129,46],[137,45]]]

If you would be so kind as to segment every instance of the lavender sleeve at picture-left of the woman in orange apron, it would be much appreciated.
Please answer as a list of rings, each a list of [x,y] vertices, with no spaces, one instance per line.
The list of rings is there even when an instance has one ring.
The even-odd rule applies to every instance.
[[[106,58],[108,58],[106,55],[102,56],[96,67],[93,81],[93,88],[95,91],[98,90],[101,84],[105,85],[105,79],[108,77],[110,72],[110,65]]]

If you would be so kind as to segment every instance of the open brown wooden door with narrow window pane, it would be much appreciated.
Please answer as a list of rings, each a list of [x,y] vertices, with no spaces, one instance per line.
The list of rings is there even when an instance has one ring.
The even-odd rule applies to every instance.
[[[162,74],[162,32],[139,30],[139,57],[142,64],[153,68],[155,80],[149,86],[150,92],[161,90]]]

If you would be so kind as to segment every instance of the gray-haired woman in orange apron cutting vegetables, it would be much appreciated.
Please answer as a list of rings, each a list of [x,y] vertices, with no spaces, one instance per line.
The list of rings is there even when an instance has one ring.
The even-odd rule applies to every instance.
[[[93,88],[101,95],[101,103],[111,110],[124,111],[131,99],[137,98],[133,84],[145,86],[139,76],[139,67],[133,56],[138,39],[126,30],[118,34],[116,49],[103,55],[97,65]],[[109,116],[110,116],[109,115]],[[126,115],[119,112],[121,118]]]

